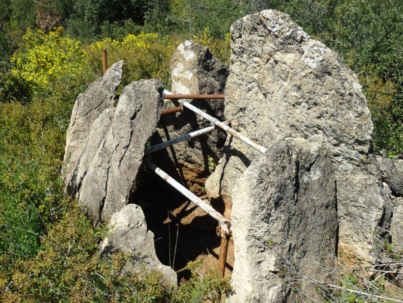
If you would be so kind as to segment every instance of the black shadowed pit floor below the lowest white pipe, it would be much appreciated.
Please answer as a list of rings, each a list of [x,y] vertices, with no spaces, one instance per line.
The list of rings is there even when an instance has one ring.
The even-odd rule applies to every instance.
[[[197,210],[195,204],[146,166],[140,169],[136,180],[130,201],[142,207],[147,227],[154,233],[155,250],[161,263],[178,271],[199,255],[209,254],[220,246],[216,220]],[[185,223],[181,222],[183,218]],[[178,281],[189,278],[190,272],[183,270],[177,276]]]

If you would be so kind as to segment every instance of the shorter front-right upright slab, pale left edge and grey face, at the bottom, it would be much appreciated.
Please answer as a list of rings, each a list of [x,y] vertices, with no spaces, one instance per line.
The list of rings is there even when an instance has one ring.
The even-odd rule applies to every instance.
[[[332,157],[323,149],[311,153],[287,143],[273,144],[269,151],[252,162],[232,191],[235,263],[229,302],[299,301],[280,271],[333,283],[329,271],[315,263],[337,265]],[[312,283],[302,281],[301,290],[324,301]]]

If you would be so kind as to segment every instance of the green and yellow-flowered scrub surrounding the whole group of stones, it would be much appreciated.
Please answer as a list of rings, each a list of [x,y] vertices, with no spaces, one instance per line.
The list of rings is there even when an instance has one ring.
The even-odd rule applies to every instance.
[[[59,178],[78,93],[109,62],[123,84],[170,84],[170,58],[192,38],[229,61],[230,24],[264,8],[286,12],[359,75],[374,147],[403,153],[403,24],[399,0],[4,0],[0,3],[0,300],[201,302],[214,273],[174,289],[160,275],[120,275],[127,258],[97,256],[94,229]],[[353,301],[351,301],[353,302]]]

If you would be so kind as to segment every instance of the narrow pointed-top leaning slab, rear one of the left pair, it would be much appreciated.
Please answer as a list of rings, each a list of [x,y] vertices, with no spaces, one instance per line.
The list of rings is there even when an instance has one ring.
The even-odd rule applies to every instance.
[[[71,188],[73,171],[87,144],[91,126],[100,114],[114,107],[116,91],[122,80],[124,61],[113,64],[100,79],[92,83],[77,97],[66,134],[66,148],[63,160],[62,178],[67,184],[67,192],[76,193]]]

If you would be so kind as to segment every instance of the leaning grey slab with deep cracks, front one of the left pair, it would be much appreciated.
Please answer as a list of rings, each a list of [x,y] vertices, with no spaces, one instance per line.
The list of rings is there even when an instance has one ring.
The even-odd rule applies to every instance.
[[[81,150],[75,150],[79,156],[69,174],[67,192],[86,206],[95,224],[128,203],[145,144],[160,118],[163,89],[163,83],[157,80],[140,80],[127,85],[116,108],[106,108],[99,114],[87,130],[85,144]],[[78,103],[77,107],[86,107],[86,104]],[[89,124],[85,117],[81,117],[82,125]]]

